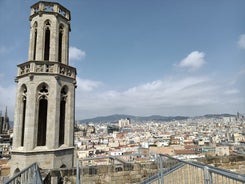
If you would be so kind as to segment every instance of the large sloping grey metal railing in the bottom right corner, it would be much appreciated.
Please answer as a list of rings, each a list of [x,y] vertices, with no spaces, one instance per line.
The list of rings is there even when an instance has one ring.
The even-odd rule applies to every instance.
[[[159,173],[141,184],[245,184],[245,175],[168,155],[158,157]]]

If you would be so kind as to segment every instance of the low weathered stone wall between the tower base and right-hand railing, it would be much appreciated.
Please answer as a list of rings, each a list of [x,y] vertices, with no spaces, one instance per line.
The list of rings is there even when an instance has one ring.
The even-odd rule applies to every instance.
[[[86,166],[80,169],[80,183],[86,184],[127,184],[139,183],[157,173],[155,163],[136,163],[119,165]],[[53,170],[50,172],[52,181],[76,183],[76,169]]]

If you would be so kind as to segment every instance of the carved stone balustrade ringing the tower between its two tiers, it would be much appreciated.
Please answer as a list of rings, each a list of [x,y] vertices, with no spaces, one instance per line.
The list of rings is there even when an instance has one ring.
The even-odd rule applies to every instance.
[[[17,78],[27,74],[42,74],[49,73],[54,75],[63,75],[66,77],[76,78],[76,69],[64,65],[59,62],[50,61],[28,61],[26,63],[18,65]]]

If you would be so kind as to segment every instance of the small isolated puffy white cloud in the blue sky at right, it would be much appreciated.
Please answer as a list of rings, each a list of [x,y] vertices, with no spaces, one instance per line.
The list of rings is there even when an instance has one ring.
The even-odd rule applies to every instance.
[[[205,54],[203,52],[193,51],[177,64],[177,66],[187,68],[189,71],[196,71],[205,63],[204,57]]]

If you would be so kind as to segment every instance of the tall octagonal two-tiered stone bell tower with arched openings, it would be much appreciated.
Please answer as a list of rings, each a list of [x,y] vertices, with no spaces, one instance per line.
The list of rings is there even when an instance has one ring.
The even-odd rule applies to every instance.
[[[69,66],[70,11],[31,6],[28,61],[18,65],[11,174],[73,167],[76,69]]]

